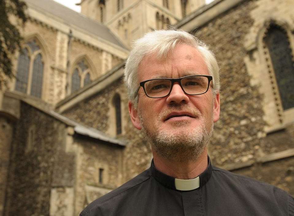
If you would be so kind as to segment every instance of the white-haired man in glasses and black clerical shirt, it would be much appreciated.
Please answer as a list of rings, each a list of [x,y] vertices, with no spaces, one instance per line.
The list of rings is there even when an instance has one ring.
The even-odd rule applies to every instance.
[[[189,33],[137,40],[126,67],[129,113],[149,138],[151,167],[81,212],[94,215],[294,215],[274,186],[212,167],[207,154],[220,117],[219,68]]]

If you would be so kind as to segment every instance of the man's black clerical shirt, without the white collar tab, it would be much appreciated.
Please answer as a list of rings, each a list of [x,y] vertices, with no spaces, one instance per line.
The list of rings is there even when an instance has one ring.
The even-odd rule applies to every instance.
[[[272,185],[213,167],[196,189],[176,189],[175,179],[151,167],[90,203],[80,216],[294,216],[294,200]]]

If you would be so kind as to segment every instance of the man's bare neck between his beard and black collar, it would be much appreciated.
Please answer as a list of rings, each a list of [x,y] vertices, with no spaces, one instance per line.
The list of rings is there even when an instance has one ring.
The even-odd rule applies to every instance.
[[[199,176],[208,166],[207,149],[195,161],[178,162],[162,158],[152,149],[156,169],[176,179],[193,179]]]

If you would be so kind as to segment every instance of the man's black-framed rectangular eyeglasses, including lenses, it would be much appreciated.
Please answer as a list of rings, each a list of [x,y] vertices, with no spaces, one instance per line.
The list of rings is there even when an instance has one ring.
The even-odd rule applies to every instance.
[[[139,88],[142,86],[149,98],[163,98],[170,94],[174,83],[179,83],[185,94],[201,95],[208,91],[211,80],[212,76],[207,75],[191,75],[178,79],[157,78],[141,82]]]

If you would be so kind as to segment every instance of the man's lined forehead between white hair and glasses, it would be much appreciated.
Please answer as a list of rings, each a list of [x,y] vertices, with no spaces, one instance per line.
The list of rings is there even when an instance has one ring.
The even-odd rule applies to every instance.
[[[179,78],[187,75],[209,75],[202,54],[194,47],[178,45],[165,59],[156,54],[145,56],[138,68],[139,82],[154,78]]]

